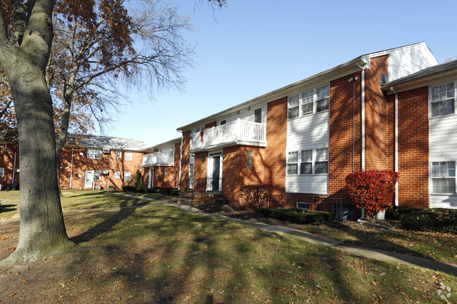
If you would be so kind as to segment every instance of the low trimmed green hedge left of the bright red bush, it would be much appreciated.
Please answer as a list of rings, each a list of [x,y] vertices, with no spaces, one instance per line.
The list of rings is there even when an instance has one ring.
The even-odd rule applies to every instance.
[[[335,215],[330,212],[308,211],[296,208],[263,208],[259,213],[267,218],[286,220],[290,223],[321,225],[332,223]]]

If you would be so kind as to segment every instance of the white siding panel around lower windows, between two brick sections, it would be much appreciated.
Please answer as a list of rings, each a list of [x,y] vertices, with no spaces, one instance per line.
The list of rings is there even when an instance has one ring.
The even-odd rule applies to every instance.
[[[328,121],[328,111],[288,120],[287,151],[297,151],[300,154],[300,168],[297,168],[298,173],[295,175],[286,174],[286,192],[328,194],[328,174],[314,174],[312,163],[312,157],[315,157],[316,150],[322,148],[328,149]],[[312,154],[311,164],[307,164],[310,160],[310,153]],[[314,159],[314,161],[316,161],[316,159]],[[326,163],[328,170],[328,161],[326,161]],[[310,166],[311,173],[309,173]],[[319,166],[325,167],[325,165]]]

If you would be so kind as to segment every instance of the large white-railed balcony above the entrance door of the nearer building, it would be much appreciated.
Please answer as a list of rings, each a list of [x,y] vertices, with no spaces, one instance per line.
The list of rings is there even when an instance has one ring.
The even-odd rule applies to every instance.
[[[202,133],[194,133],[189,152],[202,152],[231,145],[266,147],[266,125],[237,119]]]

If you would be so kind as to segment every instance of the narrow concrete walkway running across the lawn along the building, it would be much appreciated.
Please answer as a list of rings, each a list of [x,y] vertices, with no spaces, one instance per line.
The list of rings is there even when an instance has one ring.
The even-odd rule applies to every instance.
[[[128,197],[141,198],[141,199],[146,199],[148,201],[154,201],[163,206],[174,206],[183,211],[200,214],[203,216],[210,216],[211,218],[217,218],[219,220],[226,220],[226,221],[232,222],[232,223],[239,223],[242,225],[256,227],[256,228],[259,228],[260,230],[264,230],[266,232],[282,234],[282,235],[285,235],[288,237],[293,237],[295,239],[300,239],[304,242],[309,242],[311,244],[317,244],[317,245],[331,247],[333,249],[345,251],[345,252],[351,254],[352,256],[359,256],[361,258],[373,258],[375,260],[384,260],[384,261],[389,261],[392,263],[399,263],[401,265],[408,265],[408,266],[413,266],[413,267],[425,267],[425,268],[428,268],[431,270],[438,270],[438,271],[446,272],[449,275],[454,275],[457,277],[457,265],[455,265],[455,264],[439,262],[437,260],[430,260],[428,258],[419,258],[417,256],[408,256],[406,254],[396,253],[396,252],[392,252],[392,251],[384,251],[384,250],[379,250],[379,249],[366,248],[363,246],[349,245],[349,244],[345,244],[344,242],[337,241],[335,239],[329,239],[328,237],[321,237],[320,235],[312,234],[312,233],[309,233],[309,232],[306,232],[303,230],[296,230],[296,229],[282,227],[282,226],[278,226],[278,225],[255,223],[255,222],[250,222],[249,220],[240,220],[238,218],[230,218],[228,216],[223,216],[220,213],[205,213],[192,206],[188,206],[185,204],[178,204],[178,203],[174,203],[172,201],[160,201],[158,199],[137,197],[135,195],[130,195],[130,194],[122,194],[122,193],[119,193],[119,194],[125,195]]]

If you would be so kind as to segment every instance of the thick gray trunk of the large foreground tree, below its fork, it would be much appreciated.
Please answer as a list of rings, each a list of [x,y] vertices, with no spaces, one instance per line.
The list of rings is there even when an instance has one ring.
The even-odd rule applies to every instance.
[[[11,86],[20,150],[20,232],[14,260],[34,260],[72,244],[67,237],[56,180],[52,101],[44,77],[22,65]],[[36,70],[36,69],[35,69]],[[24,77],[25,74],[29,76]],[[33,75],[33,76],[32,76]]]

